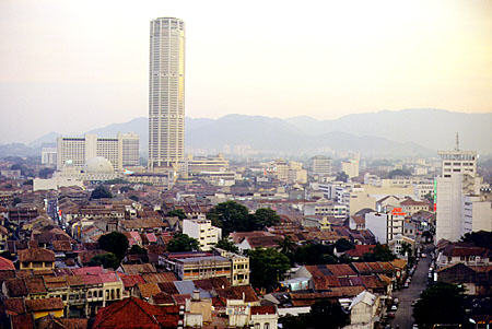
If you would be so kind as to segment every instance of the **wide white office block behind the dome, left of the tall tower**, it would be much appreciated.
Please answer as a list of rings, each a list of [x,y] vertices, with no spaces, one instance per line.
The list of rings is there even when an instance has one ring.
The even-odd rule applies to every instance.
[[[115,172],[140,164],[139,136],[118,133],[116,138],[59,137],[57,142],[57,169],[66,166],[83,168],[94,157],[108,160]]]

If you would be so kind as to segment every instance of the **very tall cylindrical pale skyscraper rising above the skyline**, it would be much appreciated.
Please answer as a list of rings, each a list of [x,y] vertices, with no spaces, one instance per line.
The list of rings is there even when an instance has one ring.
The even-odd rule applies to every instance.
[[[185,155],[185,23],[150,24],[149,167],[176,165]]]

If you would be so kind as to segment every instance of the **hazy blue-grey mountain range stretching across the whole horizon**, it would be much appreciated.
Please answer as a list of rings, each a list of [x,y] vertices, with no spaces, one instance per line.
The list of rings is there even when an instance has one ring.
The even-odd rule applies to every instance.
[[[433,156],[437,150],[460,146],[492,153],[492,114],[465,114],[442,109],[403,109],[398,111],[343,116],[317,120],[307,116],[289,119],[265,116],[227,115],[219,119],[186,118],[188,152],[215,153],[251,149],[262,154],[312,155],[330,152],[361,152],[365,156]],[[147,153],[148,119],[140,117],[85,133],[116,136],[118,131],[140,134],[141,153]],[[55,142],[50,132],[32,143]]]

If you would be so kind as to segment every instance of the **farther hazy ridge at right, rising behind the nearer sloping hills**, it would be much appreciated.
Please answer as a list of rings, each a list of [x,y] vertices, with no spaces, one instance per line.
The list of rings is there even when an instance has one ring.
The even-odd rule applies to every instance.
[[[465,114],[422,108],[348,115],[336,120],[316,120],[302,116],[286,121],[312,136],[343,131],[360,137],[374,136],[399,142],[414,142],[432,150],[454,148],[455,133],[459,132],[462,149],[492,153],[492,113]]]

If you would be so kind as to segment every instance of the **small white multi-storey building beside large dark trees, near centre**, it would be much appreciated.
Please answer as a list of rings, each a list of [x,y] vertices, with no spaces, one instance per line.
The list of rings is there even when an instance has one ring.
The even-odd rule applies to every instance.
[[[211,250],[222,237],[222,230],[212,226],[212,222],[206,219],[184,220],[183,233],[196,238],[203,251]]]

